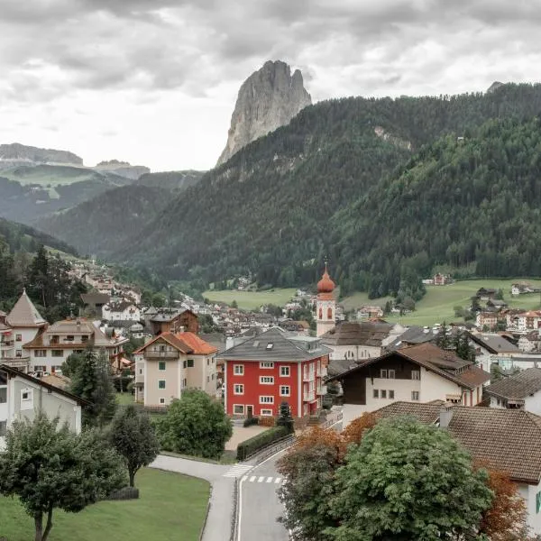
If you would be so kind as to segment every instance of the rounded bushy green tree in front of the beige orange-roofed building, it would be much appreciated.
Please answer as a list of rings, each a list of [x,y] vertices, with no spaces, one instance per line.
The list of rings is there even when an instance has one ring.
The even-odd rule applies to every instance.
[[[182,399],[173,400],[157,428],[166,451],[214,459],[224,453],[233,435],[222,404],[202,390],[187,390]]]

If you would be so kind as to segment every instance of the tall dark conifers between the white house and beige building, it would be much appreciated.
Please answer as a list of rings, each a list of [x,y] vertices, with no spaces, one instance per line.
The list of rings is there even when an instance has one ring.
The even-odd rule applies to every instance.
[[[70,390],[91,403],[91,406],[83,410],[85,425],[104,426],[113,418],[116,409],[115,387],[105,351],[96,355],[91,346],[87,347],[83,353],[83,362],[71,381]]]

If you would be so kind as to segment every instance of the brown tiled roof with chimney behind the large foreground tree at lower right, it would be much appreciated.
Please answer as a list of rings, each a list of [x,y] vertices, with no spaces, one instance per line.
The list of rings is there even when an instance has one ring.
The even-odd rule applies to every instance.
[[[436,412],[438,408],[439,412]],[[374,412],[379,417],[411,415],[432,424],[442,406],[434,403],[395,402]],[[513,481],[538,484],[541,480],[541,417],[523,409],[448,408],[447,429],[472,456],[508,472]]]

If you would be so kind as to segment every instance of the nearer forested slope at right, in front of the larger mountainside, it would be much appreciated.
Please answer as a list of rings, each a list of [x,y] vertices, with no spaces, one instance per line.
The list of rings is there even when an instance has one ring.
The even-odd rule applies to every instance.
[[[426,146],[332,220],[337,278],[376,297],[437,264],[539,276],[541,121],[491,120]]]

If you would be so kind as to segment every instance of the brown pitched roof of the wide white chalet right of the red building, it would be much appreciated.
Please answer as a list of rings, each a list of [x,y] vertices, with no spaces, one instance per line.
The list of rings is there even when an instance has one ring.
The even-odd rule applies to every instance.
[[[426,343],[410,345],[396,352],[390,352],[381,355],[381,357],[368,359],[366,362],[362,362],[362,364],[349,371],[329,378],[329,381],[343,380],[348,374],[360,371],[366,366],[380,362],[382,359],[388,359],[392,355],[399,355],[409,361],[415,362],[427,370],[443,376],[446,380],[454,381],[454,383],[471,390],[491,379],[490,373],[481,370],[473,362],[464,361],[454,352],[443,350],[435,344]]]

